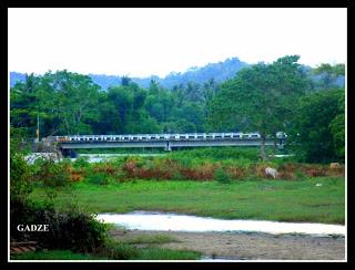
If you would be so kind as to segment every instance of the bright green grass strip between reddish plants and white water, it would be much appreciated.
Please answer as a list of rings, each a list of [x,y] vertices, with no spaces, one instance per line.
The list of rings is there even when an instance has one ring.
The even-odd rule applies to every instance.
[[[90,212],[161,210],[225,219],[344,224],[344,177],[231,184],[130,180],[108,186],[82,181],[71,188],[57,188],[55,205],[63,209],[74,199]],[[38,187],[31,194],[34,200],[44,197],[44,188]]]

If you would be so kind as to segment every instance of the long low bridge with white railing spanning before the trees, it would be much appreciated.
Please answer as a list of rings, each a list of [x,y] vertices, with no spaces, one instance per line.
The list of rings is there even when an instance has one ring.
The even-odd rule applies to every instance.
[[[277,133],[268,137],[265,145],[283,148],[286,135]],[[258,133],[184,133],[184,134],[126,134],[126,135],[71,135],[49,138],[64,156],[74,149],[84,148],[164,148],[213,146],[260,146]]]

